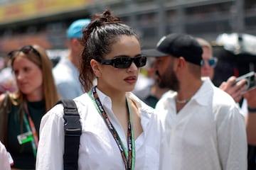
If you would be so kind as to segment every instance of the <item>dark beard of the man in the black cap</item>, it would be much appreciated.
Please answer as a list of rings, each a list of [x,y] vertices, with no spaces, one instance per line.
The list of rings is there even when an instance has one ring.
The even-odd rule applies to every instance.
[[[180,89],[180,82],[178,81],[173,67],[169,67],[169,69],[166,69],[164,74],[161,75],[156,71],[156,75],[158,76],[157,83],[161,89],[168,88],[173,91],[178,91]]]

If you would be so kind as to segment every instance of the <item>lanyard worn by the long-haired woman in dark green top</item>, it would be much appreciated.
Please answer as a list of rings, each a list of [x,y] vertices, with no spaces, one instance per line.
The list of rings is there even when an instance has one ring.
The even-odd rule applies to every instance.
[[[26,114],[23,114],[23,120],[26,125],[26,130],[28,130],[28,132],[32,132],[33,140],[31,140],[31,145],[33,149],[33,154],[36,157],[36,149],[38,148],[38,135],[36,132],[35,124],[33,123],[31,116],[29,115],[27,103],[24,103],[24,109]]]

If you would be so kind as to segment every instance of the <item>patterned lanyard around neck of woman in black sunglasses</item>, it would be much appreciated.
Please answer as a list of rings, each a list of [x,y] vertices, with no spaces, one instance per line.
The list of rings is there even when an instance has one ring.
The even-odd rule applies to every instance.
[[[102,106],[102,103],[100,102],[100,98],[97,95],[96,86],[92,88],[92,91],[89,91],[90,97],[95,104],[95,107],[97,108],[97,111],[102,115],[103,120],[105,120],[105,123],[107,125],[107,128],[110,130],[112,136],[114,137],[114,140],[117,142],[117,146],[119,147],[119,151],[121,152],[122,159],[124,161],[125,169],[131,170],[134,169],[135,164],[135,143],[134,143],[134,131],[132,130],[132,114],[129,107],[129,102],[127,101],[127,108],[129,112],[129,121],[128,121],[128,151],[124,147],[124,144],[122,143],[122,140],[120,139],[117,130],[114,129],[114,126],[110,122],[110,118],[108,118],[107,113],[105,112],[105,109]],[[92,97],[92,94],[94,98]]]

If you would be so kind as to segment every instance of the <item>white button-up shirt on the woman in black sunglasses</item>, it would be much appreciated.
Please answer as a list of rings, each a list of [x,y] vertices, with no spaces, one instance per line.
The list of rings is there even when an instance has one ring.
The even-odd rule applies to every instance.
[[[97,94],[117,130],[122,142],[127,146],[126,134],[112,112],[111,99],[97,89]],[[132,93],[127,93],[139,108],[143,132],[135,140],[135,168],[137,170],[170,169],[169,149],[163,125],[154,109],[146,106]],[[125,169],[121,153],[114,137],[108,130],[97,108],[88,94],[75,98],[80,113],[82,135],[78,169],[121,170]],[[63,169],[64,130],[63,106],[52,108],[41,120],[40,140],[36,160],[38,170]]]

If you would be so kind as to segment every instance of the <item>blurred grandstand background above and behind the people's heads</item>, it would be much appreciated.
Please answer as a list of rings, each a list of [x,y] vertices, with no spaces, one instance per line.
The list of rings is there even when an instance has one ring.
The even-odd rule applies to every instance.
[[[212,42],[219,59],[216,84],[255,70],[256,46],[238,50],[256,43],[255,0],[0,0],[0,56],[36,43],[48,49],[50,57],[61,57],[70,23],[105,8],[137,30],[143,48],[155,47],[161,36],[174,32]],[[228,39],[233,42],[231,50],[225,47],[225,38],[216,41],[224,33],[233,36]]]

